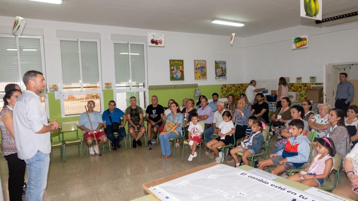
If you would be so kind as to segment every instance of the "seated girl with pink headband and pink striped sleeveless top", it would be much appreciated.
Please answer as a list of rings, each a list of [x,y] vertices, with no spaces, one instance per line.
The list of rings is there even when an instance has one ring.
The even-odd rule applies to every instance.
[[[332,157],[335,155],[335,148],[332,139],[326,137],[318,139],[317,152],[307,168],[287,179],[299,181],[306,186],[321,186],[333,170],[334,159]]]

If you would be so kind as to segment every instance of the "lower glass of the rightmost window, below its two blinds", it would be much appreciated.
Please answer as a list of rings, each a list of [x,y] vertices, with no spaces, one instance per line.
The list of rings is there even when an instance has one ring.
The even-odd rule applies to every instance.
[[[121,109],[122,111],[125,111],[127,107],[131,105],[130,97],[134,96],[137,99],[137,106],[141,107],[142,109],[145,109],[146,103],[145,103],[145,93],[146,92],[121,92],[116,93],[116,106],[117,108]]]

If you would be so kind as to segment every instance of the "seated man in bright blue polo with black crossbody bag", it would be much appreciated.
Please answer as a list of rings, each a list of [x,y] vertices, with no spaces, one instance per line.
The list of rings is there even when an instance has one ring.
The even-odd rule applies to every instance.
[[[123,124],[121,124],[121,117],[123,117]],[[119,142],[126,136],[126,115],[120,109],[116,108],[116,102],[111,100],[108,103],[108,109],[102,114],[103,128],[107,138],[112,141],[112,149],[116,151],[117,148],[121,148]],[[114,132],[118,133],[117,138],[114,136]]]

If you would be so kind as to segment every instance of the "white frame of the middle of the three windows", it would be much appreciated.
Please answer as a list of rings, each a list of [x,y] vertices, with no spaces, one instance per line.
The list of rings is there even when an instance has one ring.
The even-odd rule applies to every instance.
[[[66,91],[67,95],[83,95],[83,94],[100,94],[101,98],[101,113],[104,111],[103,106],[103,89],[102,89],[102,62],[101,62],[101,40],[100,39],[89,39],[89,38],[68,38],[68,37],[58,37],[58,50],[59,50],[59,63],[60,63],[60,91],[64,92],[63,90],[63,79],[62,79],[62,61],[61,61],[61,40],[71,40],[77,41],[78,44],[78,59],[79,59],[79,72],[81,78],[81,90],[78,91]],[[89,41],[89,42],[97,42],[97,54],[98,54],[98,82],[99,82],[99,89],[98,90],[83,90],[83,80],[82,80],[82,61],[81,61],[81,41]],[[61,117],[79,117],[81,114],[71,114],[65,115],[64,111],[64,100],[61,99]]]

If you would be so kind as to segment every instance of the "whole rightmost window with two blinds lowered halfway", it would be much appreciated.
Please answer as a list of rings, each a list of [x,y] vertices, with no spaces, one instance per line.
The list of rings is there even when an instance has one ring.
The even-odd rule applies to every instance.
[[[146,43],[114,42],[115,97],[117,107],[125,110],[129,98],[137,98],[137,106],[146,108],[148,99],[146,78]]]

